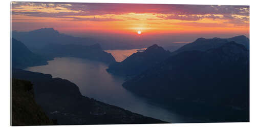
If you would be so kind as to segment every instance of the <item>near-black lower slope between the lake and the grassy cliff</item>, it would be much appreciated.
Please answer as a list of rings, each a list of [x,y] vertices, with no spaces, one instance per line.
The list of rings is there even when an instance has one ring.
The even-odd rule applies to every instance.
[[[166,123],[82,96],[74,83],[50,74],[17,69],[12,73],[34,84],[36,102],[58,124]]]

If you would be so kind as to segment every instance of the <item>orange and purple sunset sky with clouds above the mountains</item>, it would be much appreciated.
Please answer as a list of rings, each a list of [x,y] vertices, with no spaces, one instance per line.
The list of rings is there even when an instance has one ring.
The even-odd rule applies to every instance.
[[[249,37],[249,6],[12,2],[11,18],[12,30],[54,28],[78,36],[117,33]]]

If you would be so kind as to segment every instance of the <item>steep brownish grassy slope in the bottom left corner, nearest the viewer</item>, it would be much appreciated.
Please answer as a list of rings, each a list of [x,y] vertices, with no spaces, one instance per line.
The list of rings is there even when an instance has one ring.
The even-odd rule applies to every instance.
[[[12,122],[20,125],[54,125],[35,102],[33,85],[30,81],[12,79]]]

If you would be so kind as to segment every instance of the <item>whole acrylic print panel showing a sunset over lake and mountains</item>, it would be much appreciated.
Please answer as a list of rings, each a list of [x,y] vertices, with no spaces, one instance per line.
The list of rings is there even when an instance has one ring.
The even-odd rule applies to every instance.
[[[249,6],[11,3],[12,125],[249,121]]]

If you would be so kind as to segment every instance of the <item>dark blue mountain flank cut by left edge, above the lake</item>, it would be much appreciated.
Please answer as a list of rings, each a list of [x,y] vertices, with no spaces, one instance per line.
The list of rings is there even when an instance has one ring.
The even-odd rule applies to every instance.
[[[27,68],[30,66],[46,65],[50,58],[32,53],[21,41],[12,38],[12,67]]]

